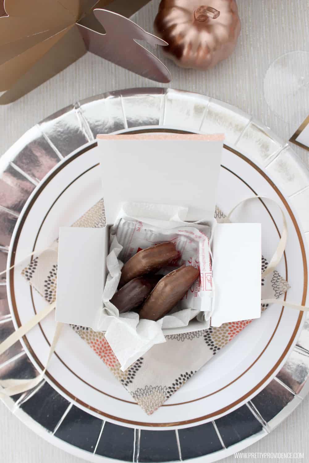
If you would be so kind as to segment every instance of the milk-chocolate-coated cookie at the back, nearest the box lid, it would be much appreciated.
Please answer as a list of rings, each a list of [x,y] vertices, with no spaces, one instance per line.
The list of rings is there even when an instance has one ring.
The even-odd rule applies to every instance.
[[[146,273],[156,273],[177,256],[178,251],[174,243],[155,244],[137,252],[122,267],[119,288],[133,278]]]

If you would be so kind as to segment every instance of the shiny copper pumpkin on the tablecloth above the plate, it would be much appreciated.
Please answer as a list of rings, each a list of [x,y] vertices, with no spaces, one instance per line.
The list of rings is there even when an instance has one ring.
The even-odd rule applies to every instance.
[[[240,34],[235,0],[161,0],[154,21],[162,50],[178,66],[208,69],[233,52]]]

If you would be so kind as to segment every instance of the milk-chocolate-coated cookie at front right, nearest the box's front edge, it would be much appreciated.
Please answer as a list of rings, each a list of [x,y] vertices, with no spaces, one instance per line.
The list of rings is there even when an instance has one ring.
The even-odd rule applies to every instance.
[[[176,306],[199,277],[199,269],[183,265],[165,275],[145,300],[139,311],[140,319],[158,320]]]

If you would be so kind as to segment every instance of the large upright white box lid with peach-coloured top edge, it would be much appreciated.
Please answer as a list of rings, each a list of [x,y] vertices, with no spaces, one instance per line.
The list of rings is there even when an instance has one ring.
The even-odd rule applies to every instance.
[[[115,222],[123,202],[184,206],[187,221],[212,220],[223,139],[221,134],[98,135],[107,223]]]

